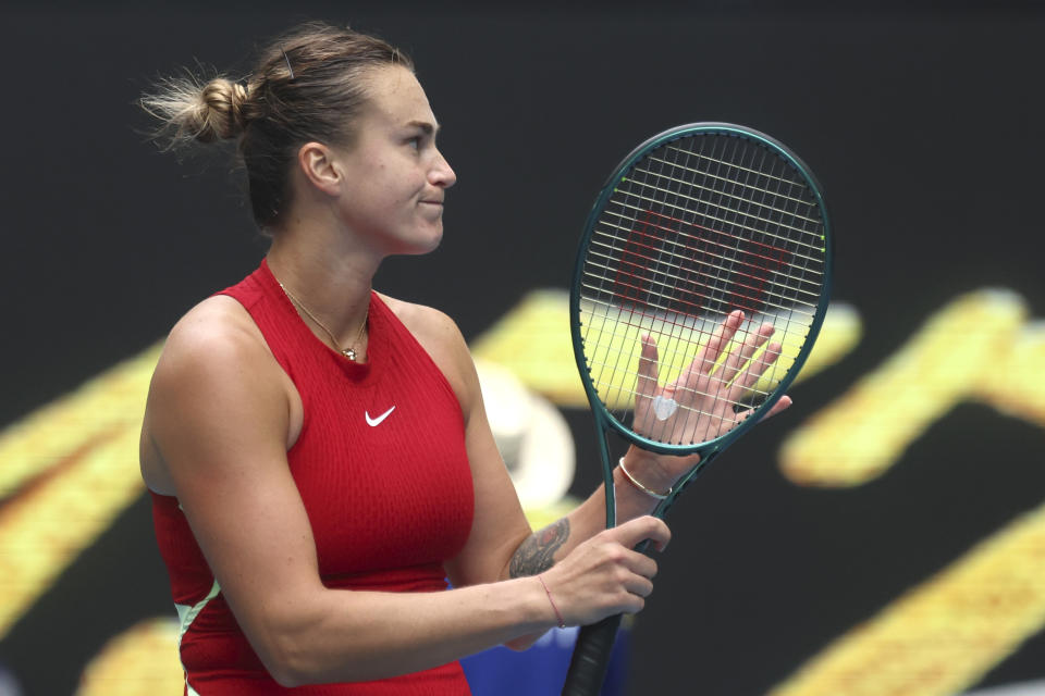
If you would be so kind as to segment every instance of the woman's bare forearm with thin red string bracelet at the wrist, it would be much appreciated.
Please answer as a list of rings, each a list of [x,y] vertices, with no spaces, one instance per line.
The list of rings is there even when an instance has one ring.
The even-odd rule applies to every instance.
[[[266,636],[256,647],[285,685],[416,672],[557,623],[531,579],[437,593],[323,589],[283,613],[256,632]]]

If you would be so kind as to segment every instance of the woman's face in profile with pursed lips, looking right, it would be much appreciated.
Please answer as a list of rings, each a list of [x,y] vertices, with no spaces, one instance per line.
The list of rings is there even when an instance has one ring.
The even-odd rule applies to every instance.
[[[443,236],[443,200],[457,179],[435,148],[439,124],[414,74],[390,65],[368,75],[369,104],[355,141],[336,151],[345,175],[339,214],[382,253],[425,253]]]

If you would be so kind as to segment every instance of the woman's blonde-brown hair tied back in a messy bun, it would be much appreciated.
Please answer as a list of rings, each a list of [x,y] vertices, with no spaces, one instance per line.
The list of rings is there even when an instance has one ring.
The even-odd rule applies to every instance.
[[[368,100],[366,74],[383,65],[413,71],[384,40],[321,22],[299,25],[261,50],[244,79],[184,75],[160,79],[140,104],[160,124],[164,150],[235,140],[247,172],[255,221],[266,228],[290,201],[288,174],[309,141],[348,146]]]

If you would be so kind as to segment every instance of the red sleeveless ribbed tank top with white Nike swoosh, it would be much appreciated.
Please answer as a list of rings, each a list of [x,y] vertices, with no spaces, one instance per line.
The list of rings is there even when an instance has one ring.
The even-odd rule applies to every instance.
[[[370,297],[368,362],[320,341],[262,261],[222,290],[238,300],[293,380],[304,422],[287,451],[331,588],[439,592],[443,562],[471,529],[471,470],[456,395],[417,339]],[[160,554],[182,620],[188,695],[288,693],[250,648],[176,498],[152,494]],[[457,662],[377,682],[303,686],[302,695],[468,694]]]

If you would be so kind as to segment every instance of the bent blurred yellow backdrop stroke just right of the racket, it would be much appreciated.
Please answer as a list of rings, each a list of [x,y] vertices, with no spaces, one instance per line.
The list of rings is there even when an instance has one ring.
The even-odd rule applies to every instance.
[[[785,440],[785,475],[802,485],[862,484],[962,401],[997,400],[1012,413],[1030,409],[1030,418],[1035,406],[1042,412],[1045,362],[1041,355],[1035,359],[1031,337],[1021,337],[1026,313],[1020,296],[991,289],[943,308],[884,364]]]

